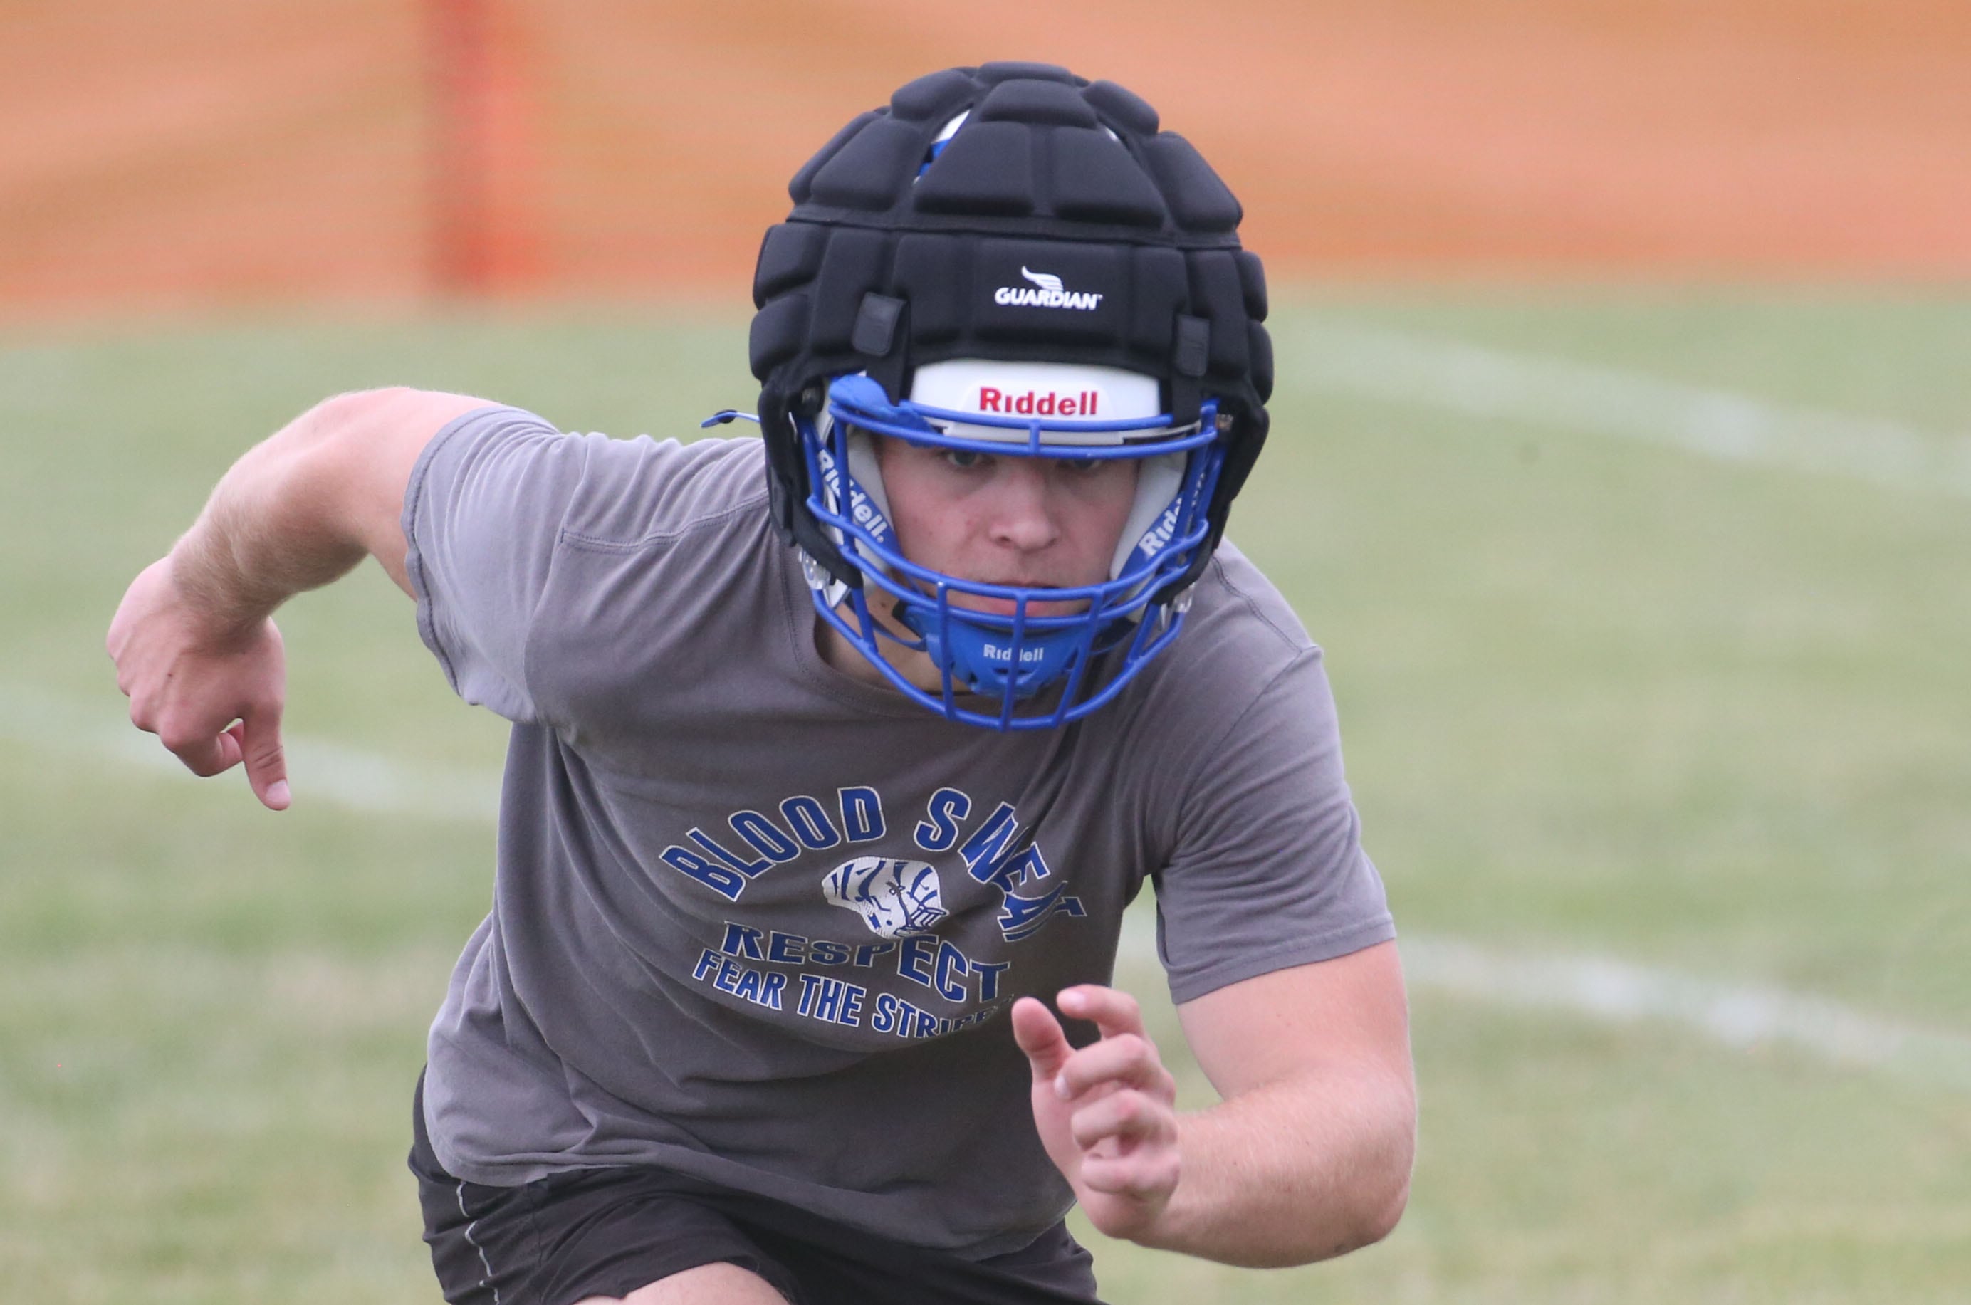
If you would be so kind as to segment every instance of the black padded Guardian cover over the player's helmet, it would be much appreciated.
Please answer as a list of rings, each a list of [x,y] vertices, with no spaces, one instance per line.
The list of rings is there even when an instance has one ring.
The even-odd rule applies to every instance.
[[[895,402],[926,363],[1084,363],[1155,377],[1179,424],[1218,400],[1228,451],[1210,538],[1177,587],[1196,580],[1265,442],[1273,349],[1238,199],[1190,142],[1112,81],[986,63],[855,116],[786,189],[794,211],[767,229],[753,274],[749,345],[782,538],[861,584],[806,511],[792,420],[820,410],[832,377],[867,373]]]

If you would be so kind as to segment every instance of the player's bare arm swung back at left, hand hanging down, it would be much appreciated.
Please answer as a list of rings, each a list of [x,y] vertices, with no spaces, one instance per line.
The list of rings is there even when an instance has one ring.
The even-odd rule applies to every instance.
[[[481,406],[424,390],[339,394],[240,457],[110,621],[130,721],[195,775],[244,761],[254,794],[286,808],[286,660],[272,613],[365,556],[408,593],[400,515],[410,471],[432,436]]]

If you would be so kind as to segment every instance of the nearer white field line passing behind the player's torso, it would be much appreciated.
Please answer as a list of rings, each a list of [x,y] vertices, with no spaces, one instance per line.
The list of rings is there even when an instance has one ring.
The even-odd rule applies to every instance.
[[[77,704],[0,682],[0,735],[55,747],[87,761],[110,757],[183,775],[150,735],[106,704]],[[499,775],[398,765],[373,753],[290,739],[300,800],[323,800],[361,814],[440,820],[493,820]],[[233,783],[242,783],[233,777]],[[252,798],[240,792],[242,802]],[[1147,909],[1123,917],[1121,950],[1155,964],[1155,925]],[[1734,1049],[1788,1045],[1821,1061],[1971,1092],[1971,1037],[1916,1029],[1835,1001],[1780,988],[1719,984],[1610,956],[1516,954],[1459,938],[1401,936],[1403,970],[1415,990],[1518,1009],[1567,1011],[1604,1023],[1662,1021]]]

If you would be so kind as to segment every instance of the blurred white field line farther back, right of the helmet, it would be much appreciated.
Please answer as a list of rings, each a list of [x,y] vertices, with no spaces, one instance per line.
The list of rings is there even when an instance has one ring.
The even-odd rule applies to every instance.
[[[1616,367],[1340,321],[1279,337],[1281,386],[1665,444],[1703,457],[1971,497],[1971,436],[1774,404]]]

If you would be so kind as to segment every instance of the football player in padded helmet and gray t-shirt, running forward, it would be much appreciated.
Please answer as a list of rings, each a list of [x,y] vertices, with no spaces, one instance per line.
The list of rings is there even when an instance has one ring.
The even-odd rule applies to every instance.
[[[276,810],[270,613],[363,556],[514,721],[414,1112],[445,1299],[1092,1301],[1072,1201],[1230,1264],[1384,1236],[1392,925],[1319,649],[1220,546],[1271,382],[1236,201],[1009,63],[790,189],[763,440],[331,398],[110,627],[138,727]],[[1196,1114],[1108,986],[1145,879]]]

